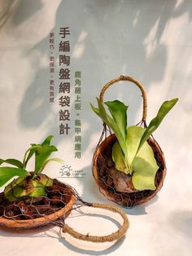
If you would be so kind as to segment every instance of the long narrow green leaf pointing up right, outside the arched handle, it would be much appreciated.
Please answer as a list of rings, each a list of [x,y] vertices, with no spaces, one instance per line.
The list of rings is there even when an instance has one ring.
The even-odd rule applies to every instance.
[[[167,100],[161,105],[157,116],[151,120],[149,126],[146,128],[145,133],[142,135],[138,150],[142,147],[143,143],[146,142],[146,139],[148,139],[149,136],[159,127],[161,121],[163,121],[164,117],[168,114],[168,112],[174,107],[175,104],[177,104],[177,100],[177,98]]]

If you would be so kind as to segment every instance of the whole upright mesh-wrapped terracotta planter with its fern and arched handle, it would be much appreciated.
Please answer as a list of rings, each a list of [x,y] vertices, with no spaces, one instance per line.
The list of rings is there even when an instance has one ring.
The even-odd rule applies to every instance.
[[[120,81],[133,82],[142,91],[142,121],[137,126],[127,127],[128,106],[124,103],[119,100],[104,103],[107,88]],[[100,192],[124,207],[150,201],[162,188],[166,174],[164,153],[152,133],[177,99],[165,101],[149,126],[146,126],[146,92],[132,77],[120,76],[108,82],[97,101],[98,108],[92,104],[91,108],[103,121],[103,133],[94,152],[93,175]]]

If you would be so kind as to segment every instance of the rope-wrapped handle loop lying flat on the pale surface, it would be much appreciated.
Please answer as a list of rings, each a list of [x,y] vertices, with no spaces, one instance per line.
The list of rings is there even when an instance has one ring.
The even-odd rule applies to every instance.
[[[109,205],[109,204],[97,204],[92,203],[90,206],[94,208],[101,208],[105,210],[111,210],[112,212],[116,212],[117,214],[120,214],[120,216],[123,218],[124,223],[119,228],[118,231],[111,233],[107,236],[89,236],[89,234],[84,235],[79,232],[76,232],[72,227],[69,227],[68,224],[65,224],[63,226],[63,232],[68,233],[69,235],[75,237],[76,239],[80,239],[83,241],[91,241],[96,243],[103,243],[103,242],[111,242],[111,241],[117,241],[122,236],[124,236],[125,232],[127,232],[129,228],[129,219],[127,218],[127,215],[124,213],[123,210],[116,207],[115,205]]]

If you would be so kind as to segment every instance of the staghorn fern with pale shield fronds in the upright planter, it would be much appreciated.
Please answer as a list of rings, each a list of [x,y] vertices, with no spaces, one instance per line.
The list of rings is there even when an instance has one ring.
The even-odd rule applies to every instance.
[[[91,104],[94,113],[113,130],[116,135],[116,143],[112,147],[112,160],[116,170],[129,174],[132,177],[134,188],[139,191],[155,190],[155,174],[159,169],[155,161],[154,152],[147,143],[147,139],[159,127],[167,113],[177,103],[178,99],[165,101],[161,105],[157,116],[153,118],[148,127],[127,127],[127,109],[119,100],[107,101],[109,115],[104,104],[97,98],[98,108]]]

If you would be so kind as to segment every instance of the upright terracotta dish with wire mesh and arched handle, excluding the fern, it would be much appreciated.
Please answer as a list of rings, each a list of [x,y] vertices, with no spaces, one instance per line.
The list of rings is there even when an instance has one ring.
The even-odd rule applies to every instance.
[[[132,77],[120,76],[108,82],[100,93],[100,100],[103,103],[104,93],[107,88],[116,82],[128,81],[133,82],[141,91],[143,99],[143,112],[142,121],[140,121],[137,126],[142,126],[146,128],[146,92],[143,86],[137,82],[137,80]],[[154,137],[151,135],[147,139],[148,144],[151,146],[154,157],[159,166],[155,174],[155,190],[143,190],[137,191],[133,187],[131,176],[124,174],[123,172],[116,170],[115,163],[112,161],[111,150],[112,146],[116,142],[116,135],[111,133],[109,126],[103,123],[103,132],[98,141],[98,145],[94,152],[93,157],[93,175],[96,183],[98,183],[99,191],[103,193],[107,199],[115,201],[117,204],[122,205],[127,208],[131,208],[134,205],[141,205],[154,197],[157,192],[162,188],[164,183],[164,177],[166,174],[166,165],[164,160],[164,153],[162,152],[159,144],[155,141]],[[114,174],[115,170],[115,174]],[[113,172],[113,174],[112,174]],[[124,187],[124,189],[122,189]]]

